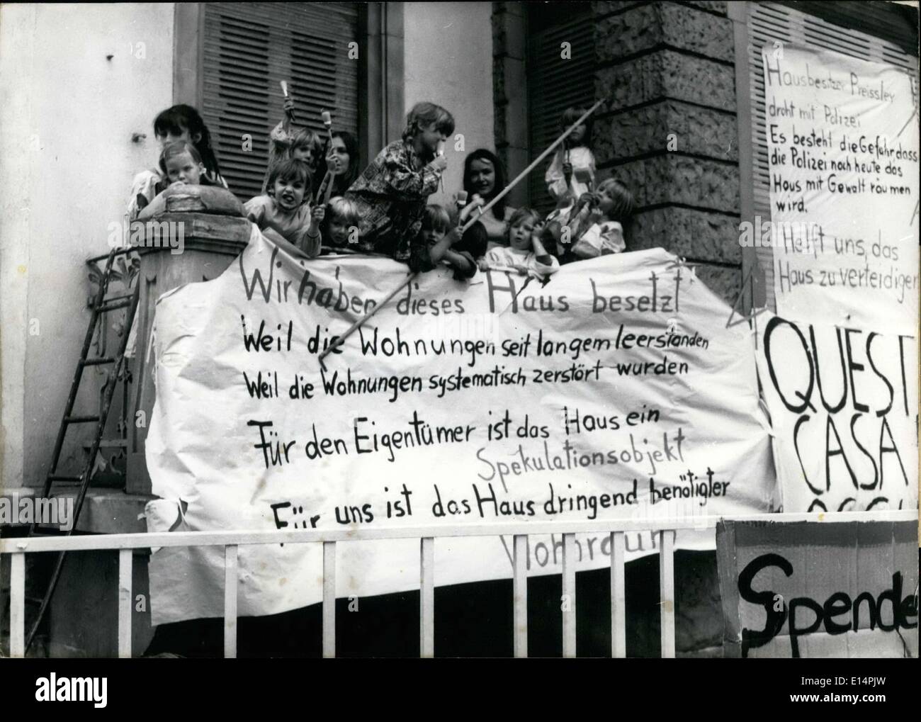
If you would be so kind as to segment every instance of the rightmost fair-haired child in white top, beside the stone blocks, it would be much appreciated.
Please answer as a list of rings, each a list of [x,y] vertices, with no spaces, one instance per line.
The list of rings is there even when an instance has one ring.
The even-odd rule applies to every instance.
[[[579,198],[577,213],[567,227],[576,258],[595,258],[620,253],[626,247],[624,223],[633,213],[633,194],[615,179],[603,181],[597,193]]]

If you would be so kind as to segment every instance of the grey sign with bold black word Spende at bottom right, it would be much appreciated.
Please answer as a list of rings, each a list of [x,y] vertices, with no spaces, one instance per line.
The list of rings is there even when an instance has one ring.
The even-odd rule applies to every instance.
[[[916,658],[917,530],[915,521],[720,522],[727,656]]]

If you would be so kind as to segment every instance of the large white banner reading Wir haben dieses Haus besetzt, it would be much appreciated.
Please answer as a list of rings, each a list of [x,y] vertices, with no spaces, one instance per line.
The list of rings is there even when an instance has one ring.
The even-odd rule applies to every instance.
[[[548,283],[306,260],[253,227],[213,281],[160,297],[146,442],[151,531],[354,529],[767,512],[775,473],[748,328],[664,250],[604,256]],[[703,527],[704,525],[702,525]],[[577,534],[577,569],[610,536]],[[531,575],[561,535],[531,535]],[[680,532],[714,548],[715,532]],[[627,558],[655,553],[627,534]],[[241,546],[239,614],[321,600],[319,544]],[[512,538],[438,538],[437,585],[509,578]],[[223,613],[219,548],[161,548],[153,623]],[[418,588],[417,539],[340,542],[337,595]]]

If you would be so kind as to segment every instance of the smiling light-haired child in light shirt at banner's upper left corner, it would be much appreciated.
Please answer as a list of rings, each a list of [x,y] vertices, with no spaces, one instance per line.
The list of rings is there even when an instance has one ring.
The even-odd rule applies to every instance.
[[[320,224],[325,209],[310,213],[310,174],[307,164],[287,158],[269,172],[269,192],[251,198],[243,208],[260,230],[271,228],[288,242],[304,251],[309,258],[320,255]]]

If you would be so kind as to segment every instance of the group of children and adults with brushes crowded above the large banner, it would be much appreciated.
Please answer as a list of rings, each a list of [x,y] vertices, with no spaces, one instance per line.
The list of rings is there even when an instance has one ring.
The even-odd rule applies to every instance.
[[[401,140],[383,148],[359,175],[354,136],[340,131],[324,143],[309,129],[292,132],[293,101],[286,99],[284,108],[285,120],[270,134],[262,194],[244,209],[266,235],[277,234],[310,258],[348,247],[386,254],[417,272],[446,264],[458,279],[478,269],[545,278],[561,263],[624,250],[623,224],[632,213],[633,197],[613,179],[596,188],[589,122],[569,134],[546,171],[554,211],[545,219],[530,208],[513,211],[501,243],[487,234],[484,223],[475,222],[485,204],[475,193],[469,203],[453,208],[427,203],[447,167],[441,148],[454,132],[449,111],[434,103],[416,104]],[[582,113],[567,110],[563,129]],[[174,106],[157,116],[154,130],[163,144],[159,168],[135,178],[132,218],[143,220],[163,210],[161,193],[169,186],[227,187],[197,111]],[[318,179],[323,179],[319,187]]]

